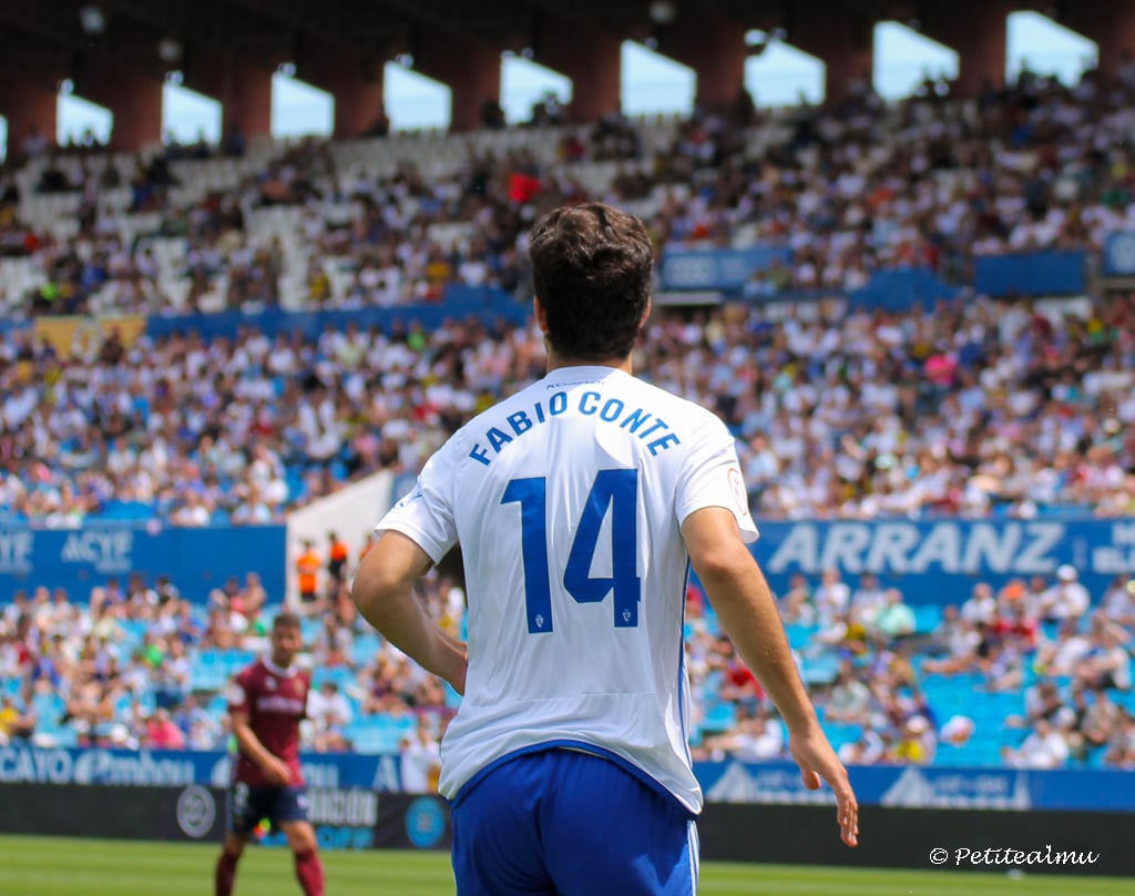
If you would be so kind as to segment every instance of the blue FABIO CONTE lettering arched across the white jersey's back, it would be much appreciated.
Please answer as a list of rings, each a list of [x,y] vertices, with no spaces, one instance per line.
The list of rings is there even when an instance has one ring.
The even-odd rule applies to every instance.
[[[646,442],[646,447],[651,455],[657,455],[659,451],[666,451],[682,443],[676,433],[669,432],[670,424],[661,417],[655,417],[642,408],[628,410],[627,403],[620,399],[604,399],[599,392],[583,392],[580,393],[575,407],[583,417],[598,417],[604,422],[638,436]],[[568,409],[568,393],[556,392],[547,400],[547,403],[538,401],[531,410],[511,413],[505,418],[504,427],[494,426],[485,433],[488,445],[486,446],[481,442],[476,443],[469,452],[469,457],[488,467],[494,457],[501,453],[501,449],[510,442],[520,438],[533,427],[541,426],[566,413]]]

